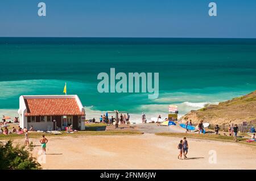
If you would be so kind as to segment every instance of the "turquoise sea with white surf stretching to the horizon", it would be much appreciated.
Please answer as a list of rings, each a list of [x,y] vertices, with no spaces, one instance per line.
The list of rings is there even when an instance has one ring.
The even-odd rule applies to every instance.
[[[158,72],[159,98],[100,94],[97,75],[110,68]],[[65,82],[88,118],[106,110],[128,111],[134,119],[142,111],[167,115],[169,104],[183,115],[256,89],[256,39],[0,38],[1,113],[18,110],[20,95],[63,94]]]

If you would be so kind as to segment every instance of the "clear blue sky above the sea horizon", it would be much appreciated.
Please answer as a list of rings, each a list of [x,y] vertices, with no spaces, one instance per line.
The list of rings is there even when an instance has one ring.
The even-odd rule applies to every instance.
[[[0,36],[256,38],[256,1],[1,0],[0,26]]]

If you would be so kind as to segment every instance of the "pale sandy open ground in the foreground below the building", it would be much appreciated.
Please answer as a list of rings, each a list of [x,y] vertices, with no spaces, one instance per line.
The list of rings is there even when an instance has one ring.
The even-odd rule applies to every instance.
[[[166,127],[163,127],[166,128]],[[256,169],[254,146],[188,139],[188,159],[177,159],[181,138],[153,133],[125,136],[50,137],[43,169]],[[14,142],[22,142],[15,140]],[[41,150],[39,140],[33,155]],[[209,163],[209,151],[216,163]],[[39,155],[40,156],[40,155]],[[42,158],[42,157],[41,157]]]

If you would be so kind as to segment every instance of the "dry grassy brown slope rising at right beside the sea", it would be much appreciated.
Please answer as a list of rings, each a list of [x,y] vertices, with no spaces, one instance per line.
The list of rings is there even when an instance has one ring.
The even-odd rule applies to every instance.
[[[191,111],[180,120],[192,120],[192,123],[210,124],[241,124],[242,121],[256,121],[256,90],[250,94],[221,102],[218,105],[210,105],[197,111]]]

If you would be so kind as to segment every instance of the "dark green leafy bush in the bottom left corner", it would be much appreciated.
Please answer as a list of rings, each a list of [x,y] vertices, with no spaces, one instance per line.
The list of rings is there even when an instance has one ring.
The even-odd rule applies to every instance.
[[[0,169],[4,170],[38,170],[42,169],[41,165],[32,157],[30,151],[34,146],[30,144],[28,148],[25,146],[13,146],[12,141],[6,144],[0,142]]]

